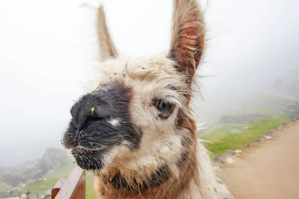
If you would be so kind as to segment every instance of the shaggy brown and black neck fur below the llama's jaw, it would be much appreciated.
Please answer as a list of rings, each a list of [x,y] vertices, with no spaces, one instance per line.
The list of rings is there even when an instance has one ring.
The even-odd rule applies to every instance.
[[[178,175],[172,173],[167,164],[163,164],[147,176],[140,176],[137,171],[126,170],[125,173],[121,173],[117,167],[107,168],[99,173],[96,172],[98,178],[95,188],[98,197],[103,199],[194,198],[201,189],[198,178],[196,126],[192,119],[183,115],[180,115],[177,122],[179,129],[188,132],[181,143],[183,148],[188,150],[181,153],[180,158],[175,162],[179,170]],[[197,193],[194,192],[196,189]]]

